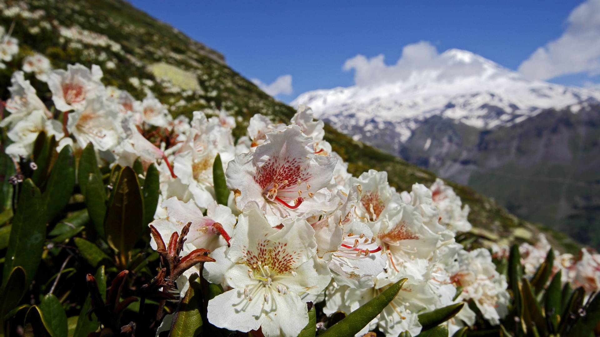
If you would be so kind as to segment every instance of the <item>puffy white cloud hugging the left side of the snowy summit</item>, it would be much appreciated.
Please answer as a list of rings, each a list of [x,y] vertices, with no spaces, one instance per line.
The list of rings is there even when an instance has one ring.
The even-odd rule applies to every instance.
[[[500,70],[494,62],[466,50],[449,49],[438,53],[428,41],[408,44],[402,49],[400,59],[386,65],[383,55],[367,58],[356,55],[347,59],[343,70],[354,70],[354,82],[358,86],[382,83],[407,82],[410,79],[451,82],[458,77],[484,76]]]

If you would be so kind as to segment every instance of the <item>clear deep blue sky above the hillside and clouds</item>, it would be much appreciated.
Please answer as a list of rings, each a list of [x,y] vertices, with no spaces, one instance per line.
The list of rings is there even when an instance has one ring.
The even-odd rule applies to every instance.
[[[592,1],[597,4],[600,0],[587,2]],[[567,22],[569,13],[582,3],[572,0],[130,2],[223,53],[227,64],[248,79],[272,83],[279,76],[291,75],[292,93],[277,95],[286,102],[305,91],[353,85],[353,72],[342,70],[347,59],[358,54],[368,58],[383,54],[386,64],[394,64],[404,46],[419,41],[430,42],[439,52],[450,48],[469,50],[517,70],[538,47],[565,34],[571,25]],[[547,68],[540,67],[542,73]],[[551,82],[578,86],[600,83],[598,71],[568,73],[569,67],[558,68],[560,75],[551,78]]]

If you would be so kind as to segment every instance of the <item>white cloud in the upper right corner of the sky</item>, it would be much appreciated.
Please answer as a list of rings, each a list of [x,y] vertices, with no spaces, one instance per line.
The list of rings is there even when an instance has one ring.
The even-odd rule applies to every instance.
[[[566,74],[600,74],[600,0],[587,0],[571,11],[563,35],[539,47],[519,71],[543,80]]]

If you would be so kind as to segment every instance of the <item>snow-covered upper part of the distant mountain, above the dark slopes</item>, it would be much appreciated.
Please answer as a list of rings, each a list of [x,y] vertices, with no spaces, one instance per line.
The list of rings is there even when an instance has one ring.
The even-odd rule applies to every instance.
[[[458,49],[447,50],[398,77],[368,86],[305,92],[292,106],[305,104],[317,117],[367,142],[378,130],[389,133],[392,128],[401,143],[431,116],[489,129],[521,122],[542,109],[600,101],[599,90],[529,80]]]

